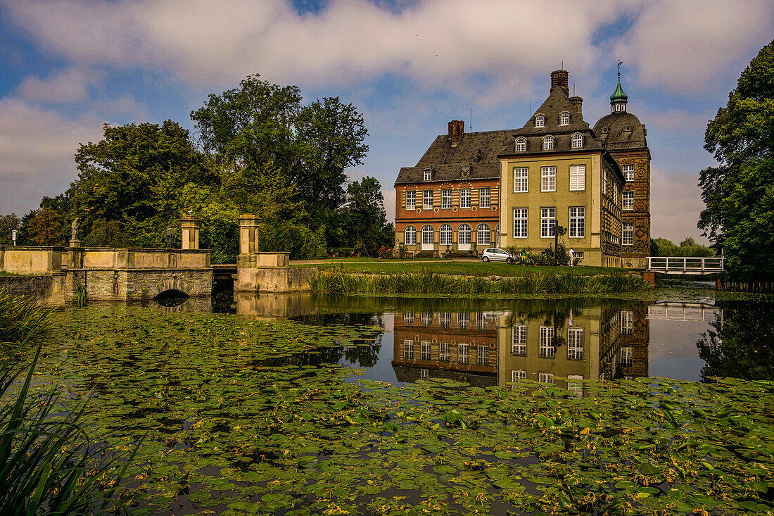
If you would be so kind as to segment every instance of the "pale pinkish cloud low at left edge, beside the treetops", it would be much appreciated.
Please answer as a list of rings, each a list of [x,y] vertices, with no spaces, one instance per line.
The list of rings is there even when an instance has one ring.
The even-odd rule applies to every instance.
[[[77,177],[78,144],[101,134],[94,115],[71,121],[19,98],[0,100],[0,213],[26,212],[64,191]]]

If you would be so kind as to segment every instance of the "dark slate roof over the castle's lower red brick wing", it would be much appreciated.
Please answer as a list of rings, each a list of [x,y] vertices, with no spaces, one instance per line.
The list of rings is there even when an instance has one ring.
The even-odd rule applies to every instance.
[[[424,170],[430,168],[433,181],[467,181],[468,179],[498,179],[499,153],[512,143],[516,129],[465,132],[451,146],[449,136],[442,134],[426,150],[415,167],[402,167],[395,184],[423,183]],[[462,167],[470,167],[470,177],[462,177]]]

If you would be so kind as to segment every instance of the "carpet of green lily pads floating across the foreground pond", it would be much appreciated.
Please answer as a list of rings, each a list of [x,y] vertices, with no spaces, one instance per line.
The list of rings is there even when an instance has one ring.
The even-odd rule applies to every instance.
[[[99,393],[88,418],[111,446],[148,432],[127,496],[157,512],[772,509],[770,382],[576,380],[578,397],[529,381],[345,381],[334,355],[379,333],[93,308],[58,319],[41,374]]]

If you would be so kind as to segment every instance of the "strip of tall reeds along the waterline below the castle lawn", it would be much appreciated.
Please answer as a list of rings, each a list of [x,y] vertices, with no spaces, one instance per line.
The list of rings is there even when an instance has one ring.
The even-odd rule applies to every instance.
[[[626,273],[581,276],[535,273],[519,277],[451,276],[430,272],[399,274],[321,270],[310,278],[314,294],[604,294],[649,289],[642,278]]]

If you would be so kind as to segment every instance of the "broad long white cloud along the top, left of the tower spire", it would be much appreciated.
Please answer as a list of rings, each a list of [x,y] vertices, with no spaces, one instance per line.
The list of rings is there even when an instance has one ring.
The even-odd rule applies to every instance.
[[[393,12],[338,0],[317,15],[297,15],[283,0],[17,0],[9,7],[39,43],[76,64],[161,66],[195,84],[233,84],[256,72],[305,84],[385,71],[444,81],[484,70],[517,87],[545,74],[546,64],[590,67],[598,57],[594,30],[628,5],[426,0]],[[573,22],[551,30],[550,20],[567,13]]]

